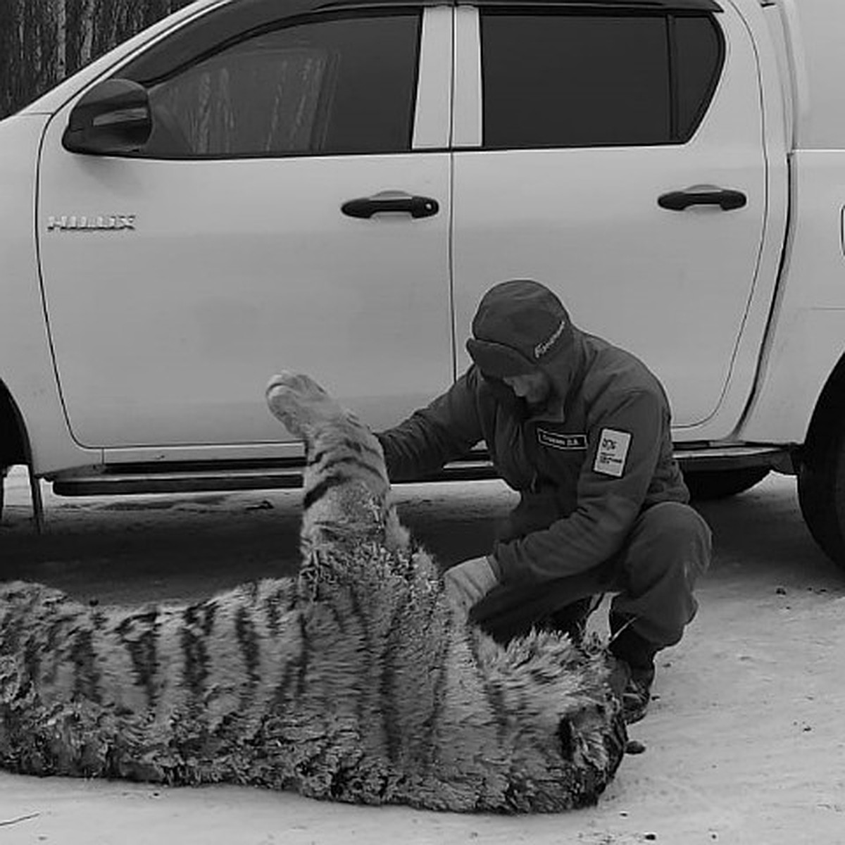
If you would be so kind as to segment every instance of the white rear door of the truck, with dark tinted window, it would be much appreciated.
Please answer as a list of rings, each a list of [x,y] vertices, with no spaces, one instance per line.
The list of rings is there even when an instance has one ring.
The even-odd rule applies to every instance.
[[[767,208],[743,20],[711,0],[482,0],[457,19],[456,341],[488,286],[542,281],[657,373],[689,439],[724,436],[742,402],[718,431],[708,421],[735,374]]]

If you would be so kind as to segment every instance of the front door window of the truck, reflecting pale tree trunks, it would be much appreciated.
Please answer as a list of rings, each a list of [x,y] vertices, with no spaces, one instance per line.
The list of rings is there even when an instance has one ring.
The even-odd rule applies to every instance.
[[[410,150],[419,21],[418,12],[311,20],[229,41],[163,79],[136,79],[154,117],[140,155]]]

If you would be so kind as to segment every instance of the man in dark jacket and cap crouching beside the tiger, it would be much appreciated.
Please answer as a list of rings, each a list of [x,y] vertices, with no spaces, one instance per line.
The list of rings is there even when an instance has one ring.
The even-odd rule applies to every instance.
[[[497,640],[532,627],[577,638],[605,592],[613,683],[646,713],[657,651],[695,616],[711,535],[673,459],[662,385],[630,352],[577,329],[535,281],[482,297],[472,366],[444,395],[379,434],[393,481],[419,478],[483,440],[520,502],[490,552],[444,575]]]

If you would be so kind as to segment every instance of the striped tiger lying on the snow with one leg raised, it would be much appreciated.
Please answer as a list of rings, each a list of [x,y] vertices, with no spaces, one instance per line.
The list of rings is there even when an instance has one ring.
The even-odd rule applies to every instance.
[[[299,579],[141,610],[3,586],[0,765],[439,810],[595,801],[625,739],[601,649],[473,629],[373,434],[305,376],[268,401],[307,444]]]

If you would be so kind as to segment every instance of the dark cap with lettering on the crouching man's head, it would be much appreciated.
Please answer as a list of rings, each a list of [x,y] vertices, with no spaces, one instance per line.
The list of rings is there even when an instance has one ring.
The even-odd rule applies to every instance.
[[[570,315],[559,298],[537,281],[515,279],[484,294],[466,351],[484,375],[504,379],[534,372],[572,341]]]

